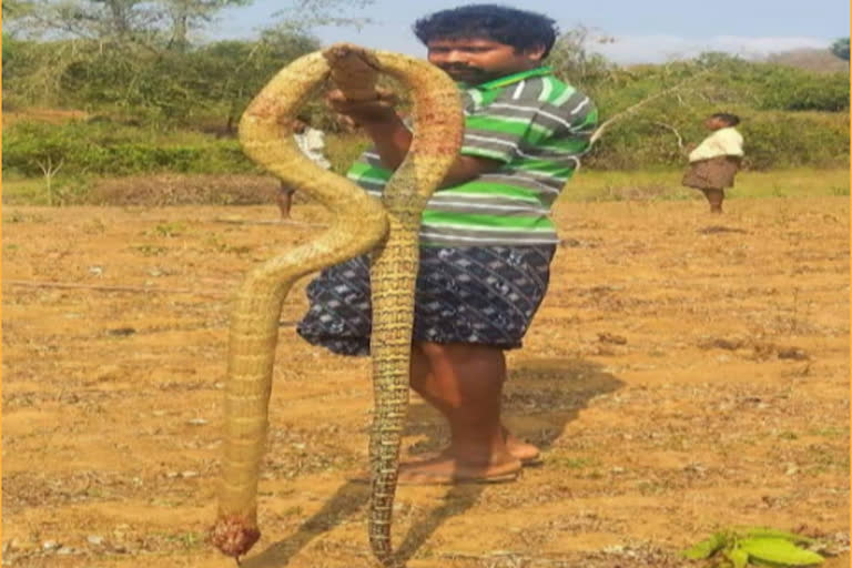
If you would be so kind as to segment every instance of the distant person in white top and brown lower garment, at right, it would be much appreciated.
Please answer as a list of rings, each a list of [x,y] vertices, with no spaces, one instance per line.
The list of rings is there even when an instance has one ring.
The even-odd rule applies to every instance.
[[[689,170],[681,182],[701,190],[711,213],[722,212],[724,189],[733,187],[733,178],[742,161],[742,135],[734,129],[739,116],[719,112],[704,121],[713,133],[689,153]]]

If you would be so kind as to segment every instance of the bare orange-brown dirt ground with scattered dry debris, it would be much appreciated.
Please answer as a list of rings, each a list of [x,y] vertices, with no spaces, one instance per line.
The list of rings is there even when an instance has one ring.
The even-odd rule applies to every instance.
[[[215,515],[229,301],[317,231],[274,206],[4,206],[3,566],[232,567]],[[562,203],[564,243],[506,420],[545,464],[404,487],[412,568],[671,567],[730,525],[802,530],[849,566],[849,197]],[[69,287],[54,287],[61,283]],[[286,302],[243,566],[368,567],[366,359],[297,339]],[[78,287],[74,287],[78,286]],[[406,455],[446,432],[413,398]]]

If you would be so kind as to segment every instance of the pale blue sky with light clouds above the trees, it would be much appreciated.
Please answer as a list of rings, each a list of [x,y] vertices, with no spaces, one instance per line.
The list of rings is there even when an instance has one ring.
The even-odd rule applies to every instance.
[[[207,31],[211,39],[255,37],[274,21],[273,13],[296,2],[254,0],[248,7],[222,12]],[[423,57],[425,49],[410,26],[430,12],[454,8],[464,0],[374,0],[345,16],[366,17],[374,23],[361,30],[323,27],[313,33],[324,43],[348,41]],[[826,48],[850,34],[849,0],[516,0],[500,1],[545,13],[562,30],[577,26],[592,37],[615,38],[612,43],[591,42],[588,48],[617,63],[663,62],[724,51],[747,58],[799,48]]]

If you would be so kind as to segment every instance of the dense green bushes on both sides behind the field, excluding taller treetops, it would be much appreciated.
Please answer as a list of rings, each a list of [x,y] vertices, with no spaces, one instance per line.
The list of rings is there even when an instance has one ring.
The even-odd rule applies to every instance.
[[[315,48],[311,38],[287,36],[222,41],[154,57],[109,45],[97,50],[91,42],[9,39],[3,42],[4,102],[32,104],[39,93],[53,93],[54,102],[99,116],[6,129],[3,170],[41,176],[40,164],[50,161],[62,164],[61,175],[71,176],[258,172],[235,139],[193,134],[192,129],[232,131],[266,81],[287,61]],[[683,144],[700,142],[707,135],[702,121],[713,112],[742,118],[747,168],[849,164],[848,73],[819,74],[714,53],[694,61],[618,68],[571,49],[566,44],[557,50],[551,63],[557,74],[592,97],[601,122],[681,85],[615,122],[586,156],[586,166],[680,168],[686,156],[678,136]],[[402,101],[405,110],[407,93]],[[329,133],[328,158],[335,171],[345,171],[366,139],[339,133],[322,97],[312,98],[303,114]]]

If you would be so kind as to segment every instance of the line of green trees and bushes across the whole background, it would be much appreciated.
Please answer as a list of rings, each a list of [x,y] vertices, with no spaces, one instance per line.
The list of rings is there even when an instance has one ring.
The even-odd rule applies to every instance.
[[[77,109],[89,116],[7,129],[4,172],[39,175],[48,159],[67,174],[252,171],[232,138],[245,105],[288,61],[321,47],[316,26],[363,23],[359,10],[369,0],[298,0],[283,4],[252,39],[202,41],[215,17],[248,1],[3,2],[4,109]],[[587,160],[592,168],[680,164],[683,140],[699,139],[701,119],[719,111],[743,118],[748,166],[848,163],[848,72],[723,53],[626,68],[596,53],[594,41],[585,28],[566,31],[549,59],[556,74],[588,92],[602,120],[648,103],[610,125]],[[848,39],[826,49],[849,58]],[[405,105],[405,93],[400,99]],[[304,114],[315,126],[339,130],[322,97]],[[215,136],[185,134],[192,131]],[[99,151],[81,152],[80,140]]]

